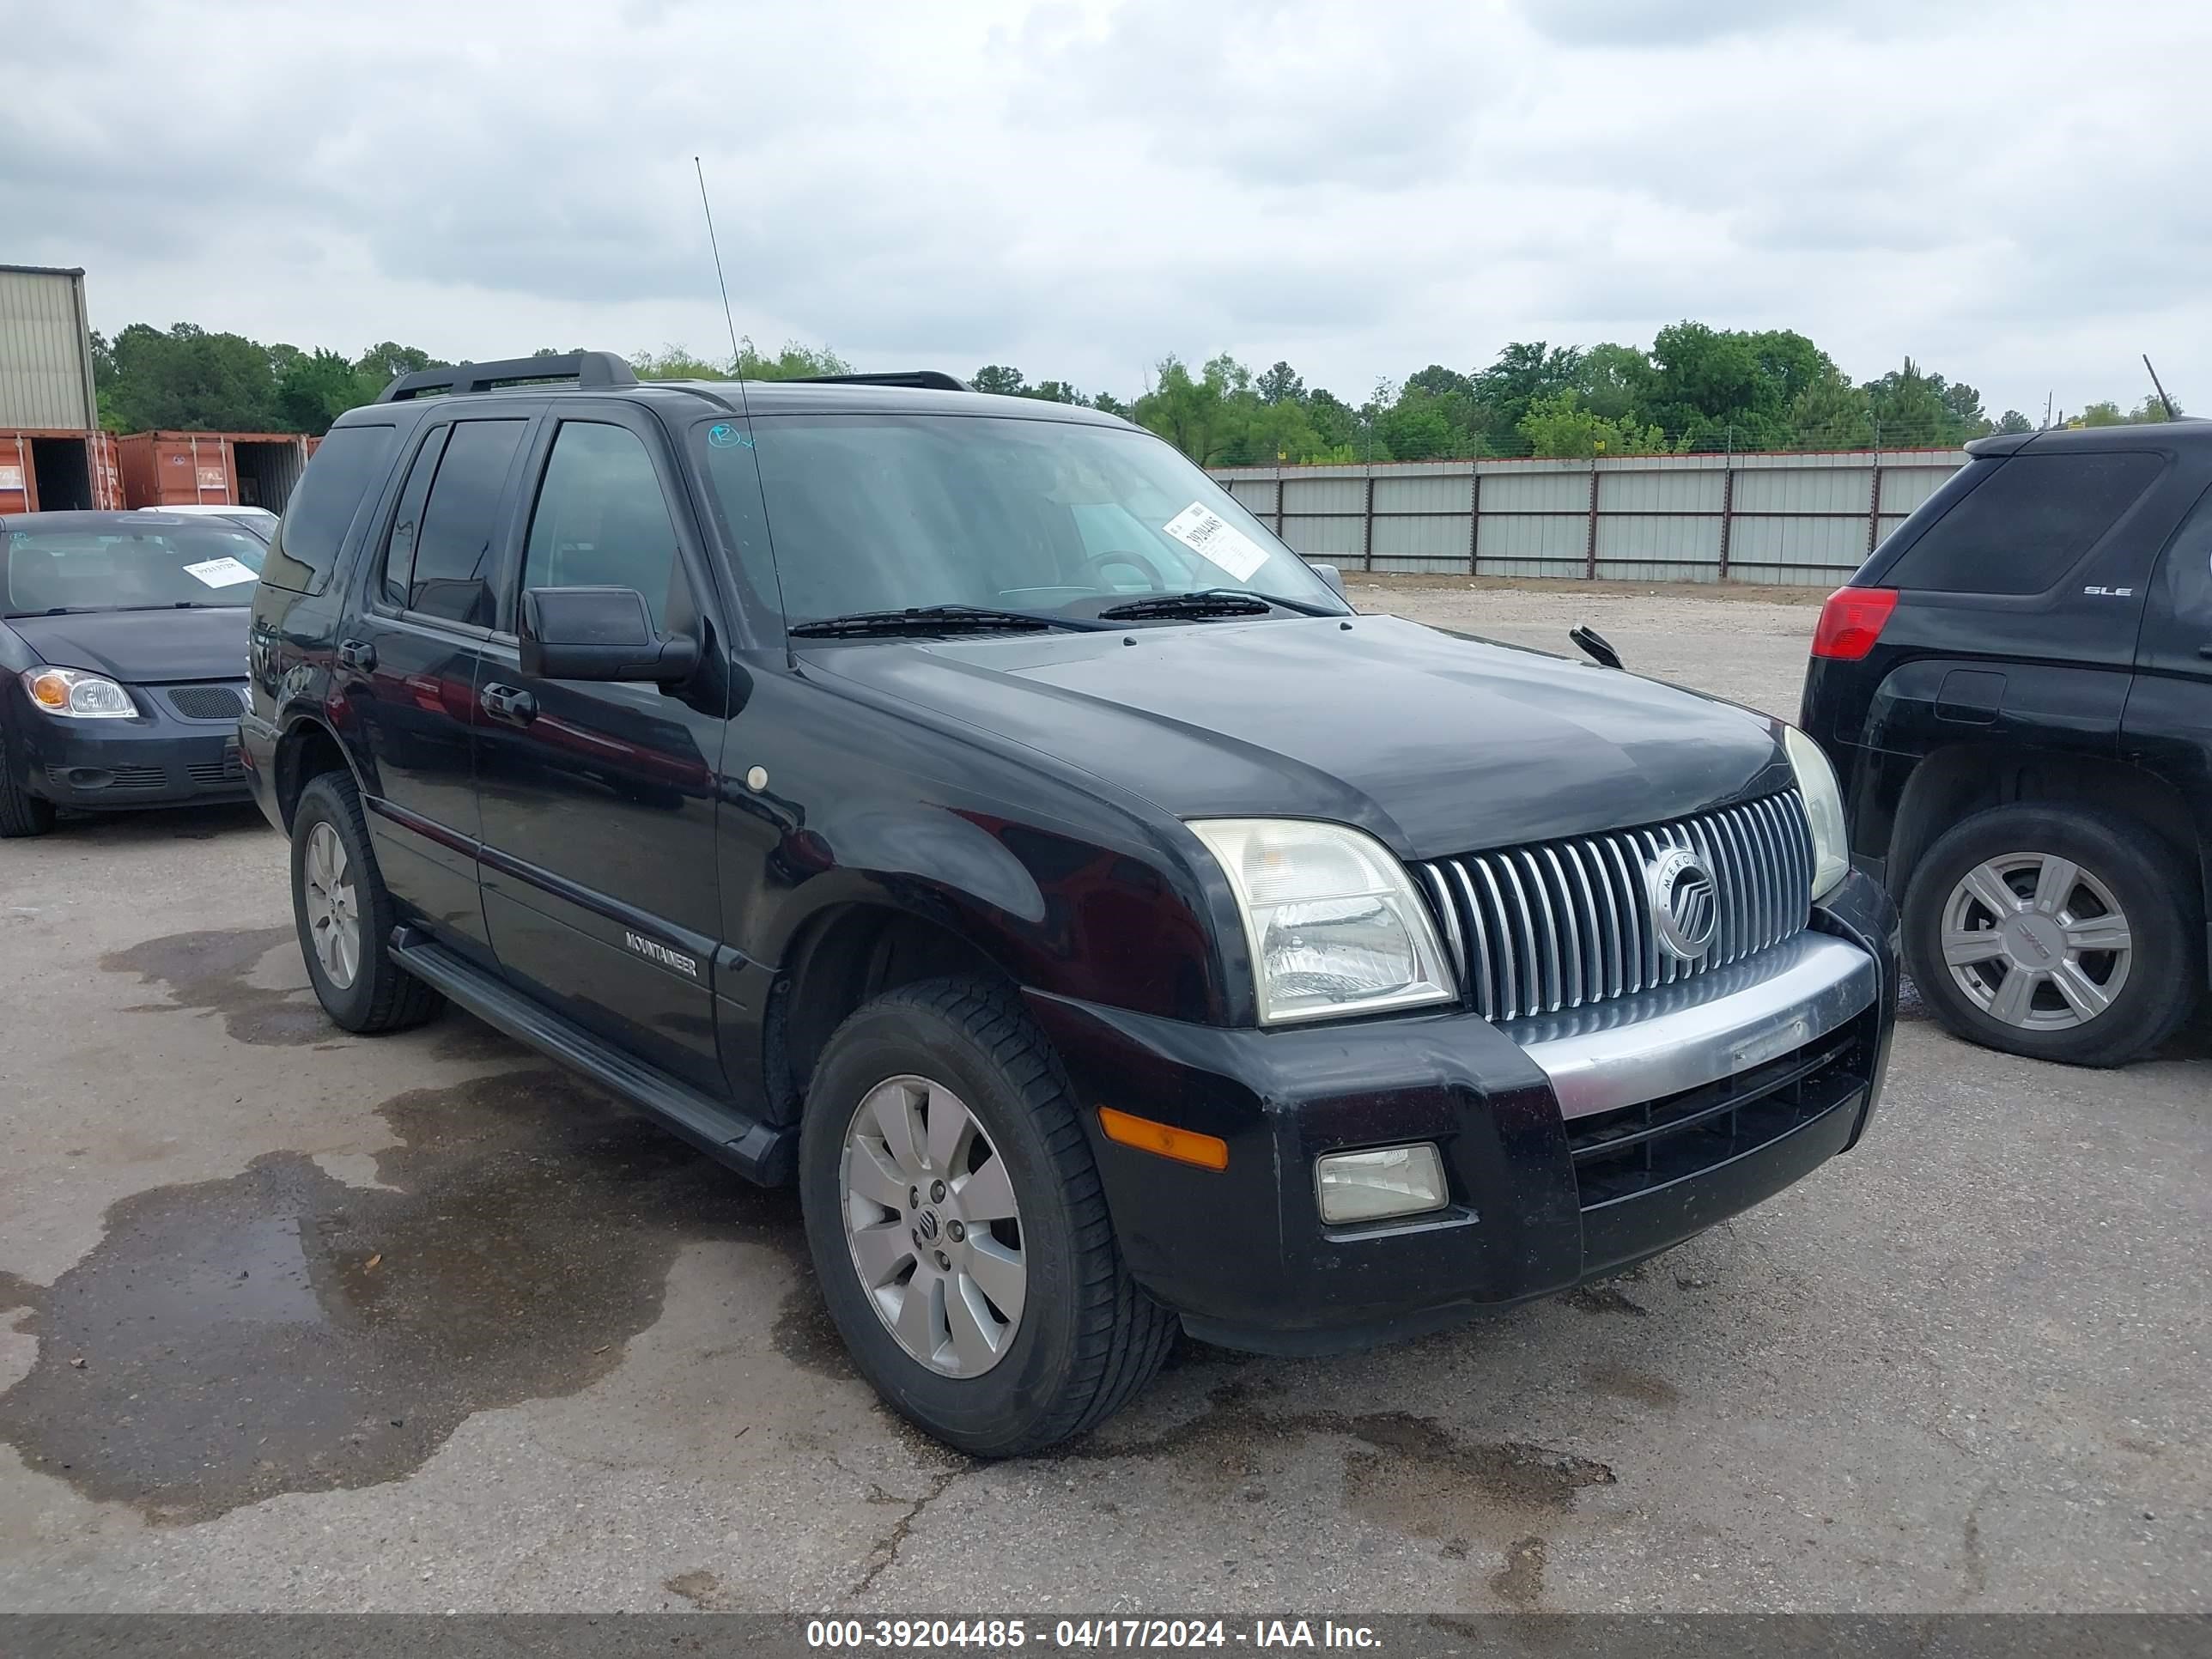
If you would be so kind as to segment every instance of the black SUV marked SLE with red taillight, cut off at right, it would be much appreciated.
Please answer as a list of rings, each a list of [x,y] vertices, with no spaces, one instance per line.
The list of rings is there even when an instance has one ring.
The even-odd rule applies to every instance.
[[[1805,730],[1929,1009],[2117,1066],[2205,993],[2212,425],[1966,449],[1827,602]]]

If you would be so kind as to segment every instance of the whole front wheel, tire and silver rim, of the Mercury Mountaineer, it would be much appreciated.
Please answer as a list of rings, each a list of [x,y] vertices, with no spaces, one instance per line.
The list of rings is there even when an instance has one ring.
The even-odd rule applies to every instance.
[[[978,1458],[1042,1451],[1159,1369],[1051,1048],[980,980],[900,987],[830,1037],[799,1139],[823,1298],[885,1402]]]

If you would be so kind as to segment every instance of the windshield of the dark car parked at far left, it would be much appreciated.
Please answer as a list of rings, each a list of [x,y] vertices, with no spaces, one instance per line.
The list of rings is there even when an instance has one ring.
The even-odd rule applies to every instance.
[[[11,617],[44,611],[250,604],[268,544],[228,522],[7,531]]]

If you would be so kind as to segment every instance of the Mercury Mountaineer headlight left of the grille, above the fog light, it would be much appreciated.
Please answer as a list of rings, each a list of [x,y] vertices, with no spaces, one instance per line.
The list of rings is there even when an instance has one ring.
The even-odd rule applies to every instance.
[[[1374,836],[1290,818],[1210,818],[1190,830],[1237,889],[1261,1024],[1455,995],[1429,907]]]

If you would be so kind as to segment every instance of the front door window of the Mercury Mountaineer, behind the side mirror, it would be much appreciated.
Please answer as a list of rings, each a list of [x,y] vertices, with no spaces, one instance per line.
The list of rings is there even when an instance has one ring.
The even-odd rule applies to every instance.
[[[628,427],[564,422],[531,513],[522,586],[637,588],[659,628],[675,568],[677,526],[646,445]]]

